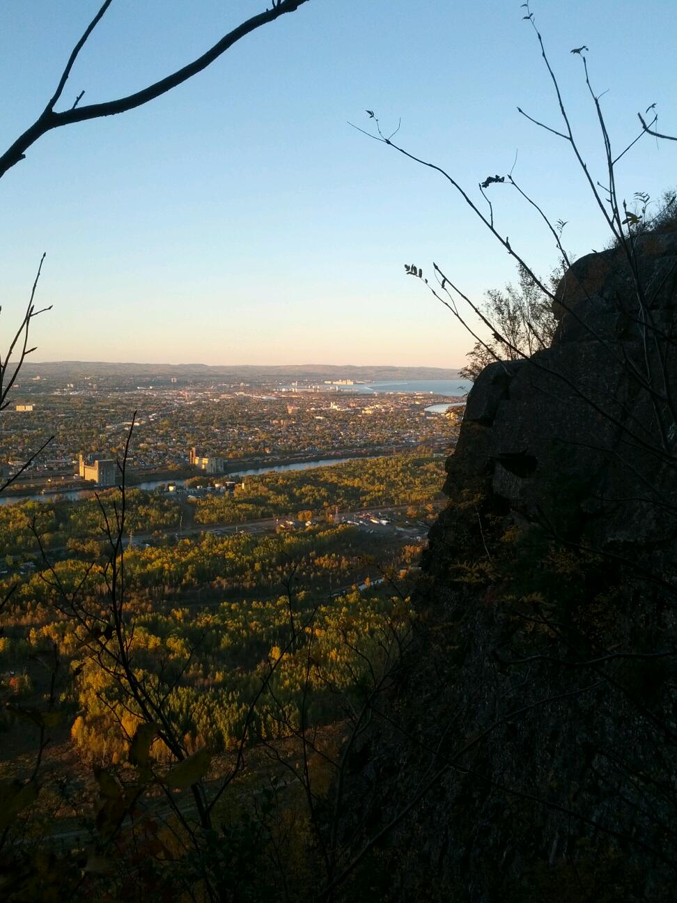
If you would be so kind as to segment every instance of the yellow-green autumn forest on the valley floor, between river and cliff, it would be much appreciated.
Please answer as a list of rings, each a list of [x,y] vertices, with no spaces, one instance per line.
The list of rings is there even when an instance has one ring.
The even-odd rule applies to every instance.
[[[7,797],[5,832],[52,850],[94,833],[106,850],[84,884],[61,855],[41,893],[51,881],[100,892],[114,875],[128,893],[139,876],[127,843],[144,848],[149,830],[165,870],[159,880],[144,869],[148,892],[177,880],[194,891],[196,787],[216,800],[210,819],[249,825],[247,843],[273,831],[310,851],[298,792],[327,792],[339,750],[368,721],[356,713],[409,642],[442,465],[396,455],[251,477],[232,495],[118,488],[0,507],[2,769],[9,788],[17,773],[40,775],[27,805]],[[124,525],[111,529],[123,502]],[[172,789],[162,775],[177,751],[188,772]],[[237,887],[254,861],[232,876]]]

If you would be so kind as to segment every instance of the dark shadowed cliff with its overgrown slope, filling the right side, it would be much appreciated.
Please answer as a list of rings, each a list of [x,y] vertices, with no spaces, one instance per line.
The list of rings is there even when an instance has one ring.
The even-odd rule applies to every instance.
[[[376,898],[673,898],[677,233],[582,258],[557,298],[552,348],[470,393],[357,756]]]

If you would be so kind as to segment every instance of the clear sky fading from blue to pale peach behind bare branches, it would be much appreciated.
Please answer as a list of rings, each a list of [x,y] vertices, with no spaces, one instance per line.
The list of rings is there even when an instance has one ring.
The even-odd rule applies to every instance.
[[[266,0],[116,0],[64,104],[142,88],[199,55]],[[3,4],[0,139],[38,115],[97,3]],[[673,0],[534,0],[581,144],[600,163],[572,47],[589,46],[612,138],[658,102],[677,130]],[[517,2],[311,0],[209,70],[123,116],[57,130],[0,182],[3,333],[48,253],[36,359],[459,366],[471,340],[403,275],[436,260],[480,296],[514,265],[434,173],[368,140],[365,108],[469,187],[509,170],[567,219],[577,254],[607,240],[558,126]],[[603,172],[598,170],[601,177]],[[675,145],[643,139],[622,190],[677,182]],[[536,269],[552,241],[496,190],[496,219]]]

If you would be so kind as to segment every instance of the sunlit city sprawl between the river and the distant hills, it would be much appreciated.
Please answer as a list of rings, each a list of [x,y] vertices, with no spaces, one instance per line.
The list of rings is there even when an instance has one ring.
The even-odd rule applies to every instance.
[[[223,474],[233,461],[260,467],[417,445],[444,452],[458,432],[441,412],[431,411],[445,401],[441,396],[361,394],[350,379],[243,386],[199,378],[177,384],[173,378],[147,386],[138,378],[91,376],[24,384],[14,405],[21,413],[0,423],[0,466],[9,472],[21,467],[51,436],[26,476],[72,479],[77,472],[98,486],[115,485],[114,458],[132,428],[134,471],[175,470],[177,476],[189,467]],[[102,448],[114,451],[79,459],[80,450]]]

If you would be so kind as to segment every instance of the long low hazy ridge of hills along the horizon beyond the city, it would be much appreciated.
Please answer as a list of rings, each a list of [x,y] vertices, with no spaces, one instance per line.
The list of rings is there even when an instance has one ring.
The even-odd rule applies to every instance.
[[[26,363],[25,376],[77,377],[225,377],[230,379],[355,379],[365,382],[403,379],[458,379],[459,370],[441,367],[354,367],[338,364],[241,364],[210,367],[208,364],[136,364],[98,360],[54,360]]]

